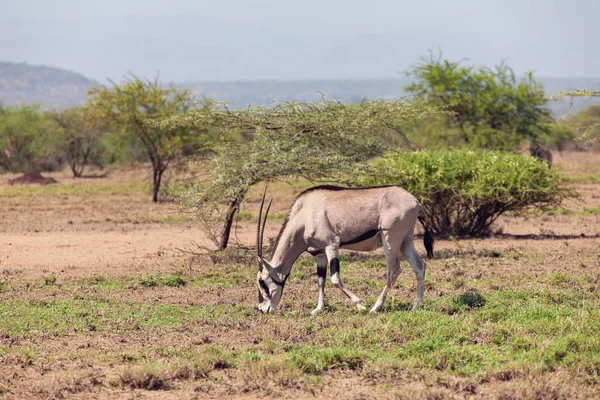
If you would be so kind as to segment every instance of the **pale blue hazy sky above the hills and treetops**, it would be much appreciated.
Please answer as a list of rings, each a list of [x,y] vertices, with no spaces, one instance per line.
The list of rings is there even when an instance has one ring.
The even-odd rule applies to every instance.
[[[0,11],[0,60],[95,79],[391,76],[428,48],[600,76],[600,0],[0,0]]]

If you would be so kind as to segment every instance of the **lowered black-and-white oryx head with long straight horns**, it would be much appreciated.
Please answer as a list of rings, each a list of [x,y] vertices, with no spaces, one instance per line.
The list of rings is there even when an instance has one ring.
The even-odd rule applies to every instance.
[[[258,226],[256,228],[256,253],[258,262],[258,274],[256,280],[258,283],[258,309],[263,313],[275,312],[281,295],[283,294],[283,284],[277,277],[277,273],[273,270],[273,267],[267,260],[262,256],[262,244],[263,236],[265,234],[265,225],[267,223],[267,216],[269,215],[269,209],[273,199],[269,201],[267,211],[265,212],[264,218],[262,217],[263,206],[265,205],[265,195],[267,194],[267,188],[263,194],[262,202],[260,203],[260,211],[258,213]],[[262,224],[261,224],[262,220]]]

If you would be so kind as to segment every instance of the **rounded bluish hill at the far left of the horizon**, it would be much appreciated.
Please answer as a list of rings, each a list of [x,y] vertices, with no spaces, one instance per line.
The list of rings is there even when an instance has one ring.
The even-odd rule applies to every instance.
[[[74,106],[85,99],[94,84],[81,74],[60,68],[0,61],[0,101],[5,105]]]

